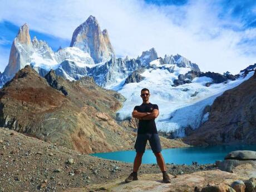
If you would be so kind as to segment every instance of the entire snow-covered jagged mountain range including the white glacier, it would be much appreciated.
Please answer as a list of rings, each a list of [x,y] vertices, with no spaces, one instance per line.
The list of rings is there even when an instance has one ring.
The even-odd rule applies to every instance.
[[[155,48],[135,58],[116,58],[107,31],[101,32],[96,18],[90,16],[73,33],[71,46],[53,52],[45,41],[29,36],[24,24],[13,41],[9,63],[0,73],[3,86],[26,65],[41,76],[51,69],[56,75],[73,81],[91,76],[104,88],[116,90],[126,97],[117,119],[131,118],[135,105],[141,104],[140,90],[151,91],[151,102],[159,105],[156,120],[161,131],[184,136],[186,129],[196,129],[207,120],[207,106],[225,90],[238,86],[252,76],[256,67],[233,76],[201,72],[199,66],[181,55],[157,55]]]

